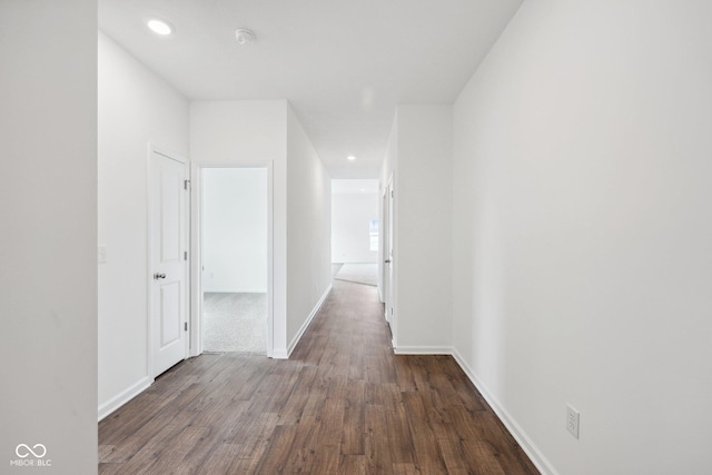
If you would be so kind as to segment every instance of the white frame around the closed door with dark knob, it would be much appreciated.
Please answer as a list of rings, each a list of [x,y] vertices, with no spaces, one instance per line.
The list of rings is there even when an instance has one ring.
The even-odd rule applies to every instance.
[[[171,160],[176,160],[181,162],[185,167],[186,167],[186,179],[190,179],[190,160],[188,160],[186,157],[179,155],[179,154],[175,154],[172,151],[169,151],[162,147],[156,146],[151,142],[148,144],[148,159],[147,159],[147,177],[148,177],[148,186],[147,186],[147,202],[148,202],[148,208],[147,208],[147,214],[146,214],[146,224],[147,224],[147,259],[146,259],[146,264],[147,264],[147,268],[146,268],[146,286],[147,286],[147,298],[146,298],[146,305],[147,305],[147,328],[146,328],[146,335],[148,338],[148,355],[146,358],[146,363],[147,363],[147,367],[146,367],[146,374],[148,375],[148,377],[150,378],[150,380],[154,380],[156,378],[156,375],[154,373],[154,352],[155,352],[155,342],[154,342],[154,281],[151,279],[151,275],[154,273],[154,231],[152,231],[152,222],[151,222],[151,214],[152,214],[152,209],[154,209],[154,154],[158,154],[161,155],[166,158],[169,158]],[[189,190],[190,188],[188,188]],[[186,218],[186,236],[184,236],[184,238],[186,239],[186,243],[188,244],[188,249],[186,249],[188,251],[188,258],[187,258],[187,264],[186,264],[186,275],[185,275],[185,279],[186,279],[186,321],[188,321],[188,335],[186,336],[186,349],[185,349],[185,357],[184,360],[186,358],[188,358],[190,356],[190,347],[191,347],[191,334],[192,334],[192,325],[190,324],[191,321],[191,313],[190,313],[190,288],[191,288],[191,279],[190,279],[190,267],[191,267],[191,253],[190,253],[190,247],[191,247],[191,243],[190,243],[190,227],[191,227],[191,216],[190,216],[190,201],[191,201],[191,197],[190,194],[188,195],[188,198],[186,199],[186,209],[184,210],[184,212],[186,214],[185,218]]]

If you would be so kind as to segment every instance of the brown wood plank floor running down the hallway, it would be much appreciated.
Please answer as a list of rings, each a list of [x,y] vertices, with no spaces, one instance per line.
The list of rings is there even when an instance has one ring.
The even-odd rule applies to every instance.
[[[537,474],[449,356],[396,356],[335,281],[289,360],[202,355],[99,424],[101,474]]]

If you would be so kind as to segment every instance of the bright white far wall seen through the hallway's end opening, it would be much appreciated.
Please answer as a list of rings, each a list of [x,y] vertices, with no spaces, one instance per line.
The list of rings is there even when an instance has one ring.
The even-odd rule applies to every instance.
[[[336,190],[343,181],[352,182],[353,189]],[[332,261],[377,263],[378,250],[370,250],[369,229],[372,220],[379,220],[377,180],[333,180],[332,185]]]

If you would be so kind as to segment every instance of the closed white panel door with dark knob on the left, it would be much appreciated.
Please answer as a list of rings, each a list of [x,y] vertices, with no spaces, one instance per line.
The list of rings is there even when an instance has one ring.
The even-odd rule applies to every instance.
[[[156,377],[188,354],[187,164],[151,152],[151,362]]]

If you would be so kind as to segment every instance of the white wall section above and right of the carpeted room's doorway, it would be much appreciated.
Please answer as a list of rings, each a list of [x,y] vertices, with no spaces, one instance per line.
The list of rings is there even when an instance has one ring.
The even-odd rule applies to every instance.
[[[287,102],[191,102],[190,159],[210,167],[271,164],[274,356],[286,357]]]

